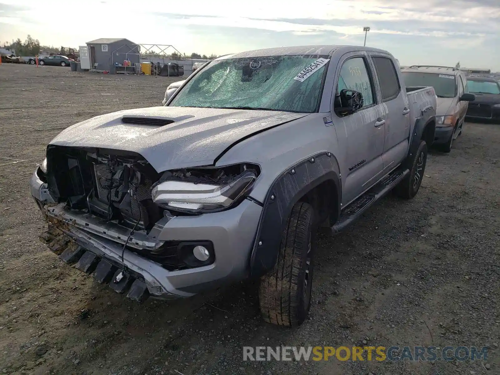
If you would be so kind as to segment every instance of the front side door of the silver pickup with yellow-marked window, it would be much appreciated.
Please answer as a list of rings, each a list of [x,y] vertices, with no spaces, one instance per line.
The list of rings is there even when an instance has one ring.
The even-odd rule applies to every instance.
[[[332,111],[338,141],[343,143],[342,205],[348,204],[377,181],[382,171],[383,108],[376,100],[373,74],[363,52],[346,54],[340,60],[334,108],[340,106],[344,88],[361,92],[363,106],[345,116]],[[333,109],[334,109],[333,108]]]

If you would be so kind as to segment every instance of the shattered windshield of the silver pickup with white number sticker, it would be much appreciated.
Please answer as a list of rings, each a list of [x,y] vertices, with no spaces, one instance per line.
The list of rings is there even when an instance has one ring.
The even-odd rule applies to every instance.
[[[169,105],[315,112],[328,56],[282,55],[210,62]]]

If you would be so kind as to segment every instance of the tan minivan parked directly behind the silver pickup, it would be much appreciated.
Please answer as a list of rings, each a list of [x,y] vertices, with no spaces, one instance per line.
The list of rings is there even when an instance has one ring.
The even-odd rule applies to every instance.
[[[434,144],[449,152],[453,140],[462,133],[468,102],[474,95],[467,91],[465,73],[454,67],[413,65],[402,69],[406,86],[432,86],[437,96]]]

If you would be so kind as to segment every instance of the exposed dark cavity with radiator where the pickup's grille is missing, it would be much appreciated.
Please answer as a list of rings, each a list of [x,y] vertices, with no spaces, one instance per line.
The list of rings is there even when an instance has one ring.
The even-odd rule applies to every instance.
[[[148,228],[162,216],[150,193],[158,173],[137,154],[49,146],[46,178],[58,202],[124,226]]]

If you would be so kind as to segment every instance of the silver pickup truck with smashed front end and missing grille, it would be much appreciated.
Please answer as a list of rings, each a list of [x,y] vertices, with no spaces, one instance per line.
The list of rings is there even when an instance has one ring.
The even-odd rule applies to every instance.
[[[434,139],[434,89],[407,92],[380,49],[235,53],[167,92],[69,126],[30,180],[40,238],[138,301],[258,277],[263,318],[300,324],[316,229],[413,197]]]

